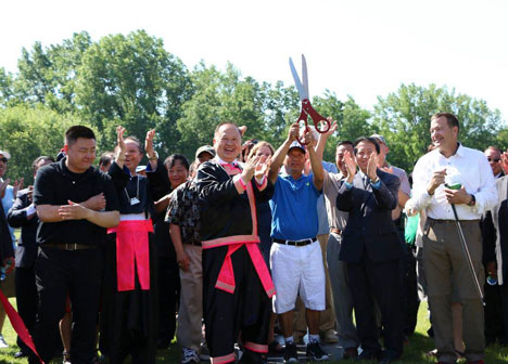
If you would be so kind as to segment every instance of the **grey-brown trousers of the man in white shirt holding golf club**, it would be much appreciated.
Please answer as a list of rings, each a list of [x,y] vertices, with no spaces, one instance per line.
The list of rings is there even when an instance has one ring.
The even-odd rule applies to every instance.
[[[474,271],[483,289],[482,237],[479,221],[460,221]],[[455,363],[452,295],[462,303],[466,359],[484,358],[484,310],[469,270],[455,221],[428,219],[423,234],[423,266],[437,359]],[[455,287],[454,287],[455,285]]]

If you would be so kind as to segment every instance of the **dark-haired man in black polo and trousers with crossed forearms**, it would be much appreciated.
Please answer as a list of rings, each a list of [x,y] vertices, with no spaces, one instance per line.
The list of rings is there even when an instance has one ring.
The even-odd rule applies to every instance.
[[[106,229],[119,222],[118,200],[110,177],[91,164],[96,136],[87,127],[65,132],[65,157],[41,168],[35,181],[34,204],[41,222],[37,232],[36,263],[39,308],[34,339],[41,359],[49,363],[59,339],[58,323],[71,298],[74,327],[71,361],[91,363],[94,353],[101,253]],[[94,211],[84,202],[103,194],[105,208]],[[30,355],[30,363],[38,363]]]

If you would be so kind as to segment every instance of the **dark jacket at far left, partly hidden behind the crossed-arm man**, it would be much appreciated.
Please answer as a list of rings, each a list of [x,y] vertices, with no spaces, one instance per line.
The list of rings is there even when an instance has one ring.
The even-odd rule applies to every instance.
[[[16,268],[34,266],[37,257],[37,227],[39,218],[37,213],[27,218],[26,211],[31,202],[28,199],[28,188],[17,193],[14,205],[9,210],[8,221],[12,227],[21,227],[21,237],[16,248]]]

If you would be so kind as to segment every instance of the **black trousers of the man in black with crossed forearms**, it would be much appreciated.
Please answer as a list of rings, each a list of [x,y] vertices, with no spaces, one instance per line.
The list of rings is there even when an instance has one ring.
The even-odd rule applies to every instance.
[[[89,364],[96,348],[102,255],[99,249],[63,250],[42,247],[36,262],[39,292],[34,341],[41,359],[49,363],[58,340],[59,322],[65,313],[67,292],[73,310],[71,359]],[[30,354],[29,363],[39,363]]]

